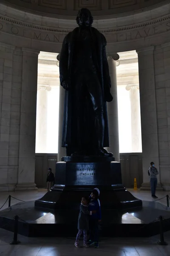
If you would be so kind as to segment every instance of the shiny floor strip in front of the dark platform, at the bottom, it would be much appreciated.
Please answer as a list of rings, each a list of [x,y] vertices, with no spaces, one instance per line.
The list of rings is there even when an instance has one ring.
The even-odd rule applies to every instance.
[[[19,245],[9,245],[13,233],[0,229],[0,256],[170,256],[170,245],[157,245],[159,236],[149,239],[103,238],[99,248],[76,248],[74,239],[28,238],[19,236]],[[170,232],[165,234],[170,244]],[[81,241],[82,243],[82,241]]]

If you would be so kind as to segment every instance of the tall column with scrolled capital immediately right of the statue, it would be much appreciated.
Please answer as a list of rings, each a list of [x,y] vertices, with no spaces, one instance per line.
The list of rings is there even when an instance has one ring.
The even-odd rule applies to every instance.
[[[108,107],[108,126],[110,147],[106,148],[113,153],[115,161],[119,162],[119,124],[118,124],[118,103],[117,103],[117,80],[116,80],[116,61],[119,60],[117,53],[108,56],[109,73],[111,76],[111,94],[113,101],[107,103]]]

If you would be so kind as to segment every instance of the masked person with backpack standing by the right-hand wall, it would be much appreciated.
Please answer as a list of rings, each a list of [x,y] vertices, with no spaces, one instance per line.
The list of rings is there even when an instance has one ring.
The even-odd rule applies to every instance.
[[[153,198],[158,198],[155,195],[156,192],[156,186],[157,186],[157,177],[159,172],[155,167],[155,164],[153,162],[150,163],[150,168],[148,169],[148,175],[150,176],[150,187],[151,187],[151,193]]]

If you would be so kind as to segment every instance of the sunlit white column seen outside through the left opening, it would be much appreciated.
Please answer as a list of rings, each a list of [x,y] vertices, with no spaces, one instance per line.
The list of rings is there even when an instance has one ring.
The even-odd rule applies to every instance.
[[[50,86],[38,85],[37,90],[37,118],[36,118],[36,152],[47,151],[47,94]]]

